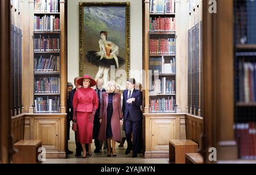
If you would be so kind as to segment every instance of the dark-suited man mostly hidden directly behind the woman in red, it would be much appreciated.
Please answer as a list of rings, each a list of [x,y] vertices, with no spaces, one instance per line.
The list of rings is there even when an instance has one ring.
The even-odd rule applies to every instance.
[[[68,94],[68,113],[70,113],[72,115],[72,118],[73,118],[73,97],[76,93],[76,90],[81,88],[81,86],[79,84],[77,84],[77,80],[79,78],[80,77],[75,78],[74,84],[75,84],[76,88],[73,89]],[[75,132],[75,139],[76,139],[76,132]],[[88,149],[86,149],[86,150],[88,150]],[[79,142],[77,142],[77,140],[76,140],[76,157],[80,157],[81,153],[82,153],[82,145]]]

